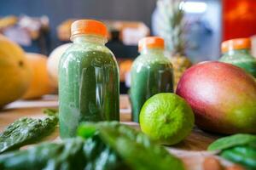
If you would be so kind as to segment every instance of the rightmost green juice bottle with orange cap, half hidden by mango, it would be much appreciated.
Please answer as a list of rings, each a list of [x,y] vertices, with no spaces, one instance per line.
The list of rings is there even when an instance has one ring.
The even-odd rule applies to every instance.
[[[241,67],[256,77],[256,59],[250,54],[250,38],[237,38],[222,42],[221,48],[223,56],[219,61]]]

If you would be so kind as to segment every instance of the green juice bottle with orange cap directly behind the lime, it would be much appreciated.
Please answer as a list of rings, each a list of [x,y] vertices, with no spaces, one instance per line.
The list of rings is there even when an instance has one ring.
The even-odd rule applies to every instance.
[[[143,104],[154,94],[173,92],[172,63],[164,55],[160,37],[145,37],[139,42],[140,55],[131,67],[132,120],[139,122]]]

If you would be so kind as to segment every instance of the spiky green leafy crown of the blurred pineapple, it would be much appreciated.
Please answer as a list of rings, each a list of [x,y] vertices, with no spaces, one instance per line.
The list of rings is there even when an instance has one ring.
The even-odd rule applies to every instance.
[[[160,12],[160,37],[166,41],[166,49],[173,55],[184,55],[184,11],[182,0],[158,0]]]

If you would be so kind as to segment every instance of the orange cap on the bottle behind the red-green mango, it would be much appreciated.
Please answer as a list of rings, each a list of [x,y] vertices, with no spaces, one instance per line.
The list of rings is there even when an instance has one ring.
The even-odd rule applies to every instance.
[[[251,39],[250,38],[236,38],[228,41],[224,41],[221,44],[222,53],[226,53],[234,49],[250,49]]]

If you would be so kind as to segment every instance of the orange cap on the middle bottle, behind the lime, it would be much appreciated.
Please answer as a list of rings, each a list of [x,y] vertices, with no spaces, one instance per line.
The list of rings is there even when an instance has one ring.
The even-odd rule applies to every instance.
[[[139,51],[143,48],[165,48],[165,40],[161,37],[144,37],[138,42]]]

